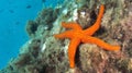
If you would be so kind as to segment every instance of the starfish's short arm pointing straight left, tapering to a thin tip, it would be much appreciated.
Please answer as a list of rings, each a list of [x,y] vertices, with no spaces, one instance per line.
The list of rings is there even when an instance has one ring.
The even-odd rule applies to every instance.
[[[67,31],[61,34],[55,34],[54,37],[55,38],[72,38],[73,37],[73,31]]]

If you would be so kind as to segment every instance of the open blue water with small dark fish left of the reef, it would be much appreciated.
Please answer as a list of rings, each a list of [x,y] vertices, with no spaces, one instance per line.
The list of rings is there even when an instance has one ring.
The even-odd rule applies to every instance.
[[[18,56],[29,39],[26,21],[34,20],[42,8],[56,4],[56,0],[0,0],[0,69]]]

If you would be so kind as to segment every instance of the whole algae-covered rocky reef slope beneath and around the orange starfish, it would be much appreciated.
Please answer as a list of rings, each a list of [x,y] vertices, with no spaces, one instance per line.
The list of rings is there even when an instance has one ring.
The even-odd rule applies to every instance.
[[[56,39],[53,35],[65,31],[62,22],[77,22],[84,29],[91,26],[100,4],[105,4],[105,14],[94,36],[120,45],[121,49],[107,51],[94,44],[80,44],[76,68],[70,69],[69,39]],[[131,0],[65,0],[55,9],[43,9],[25,29],[29,41],[0,73],[132,73]]]

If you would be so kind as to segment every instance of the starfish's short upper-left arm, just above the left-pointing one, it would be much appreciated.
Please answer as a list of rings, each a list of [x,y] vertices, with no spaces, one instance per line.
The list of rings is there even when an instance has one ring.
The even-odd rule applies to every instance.
[[[62,26],[64,26],[66,28],[81,29],[81,26],[74,22],[68,22],[68,23],[62,22]]]

